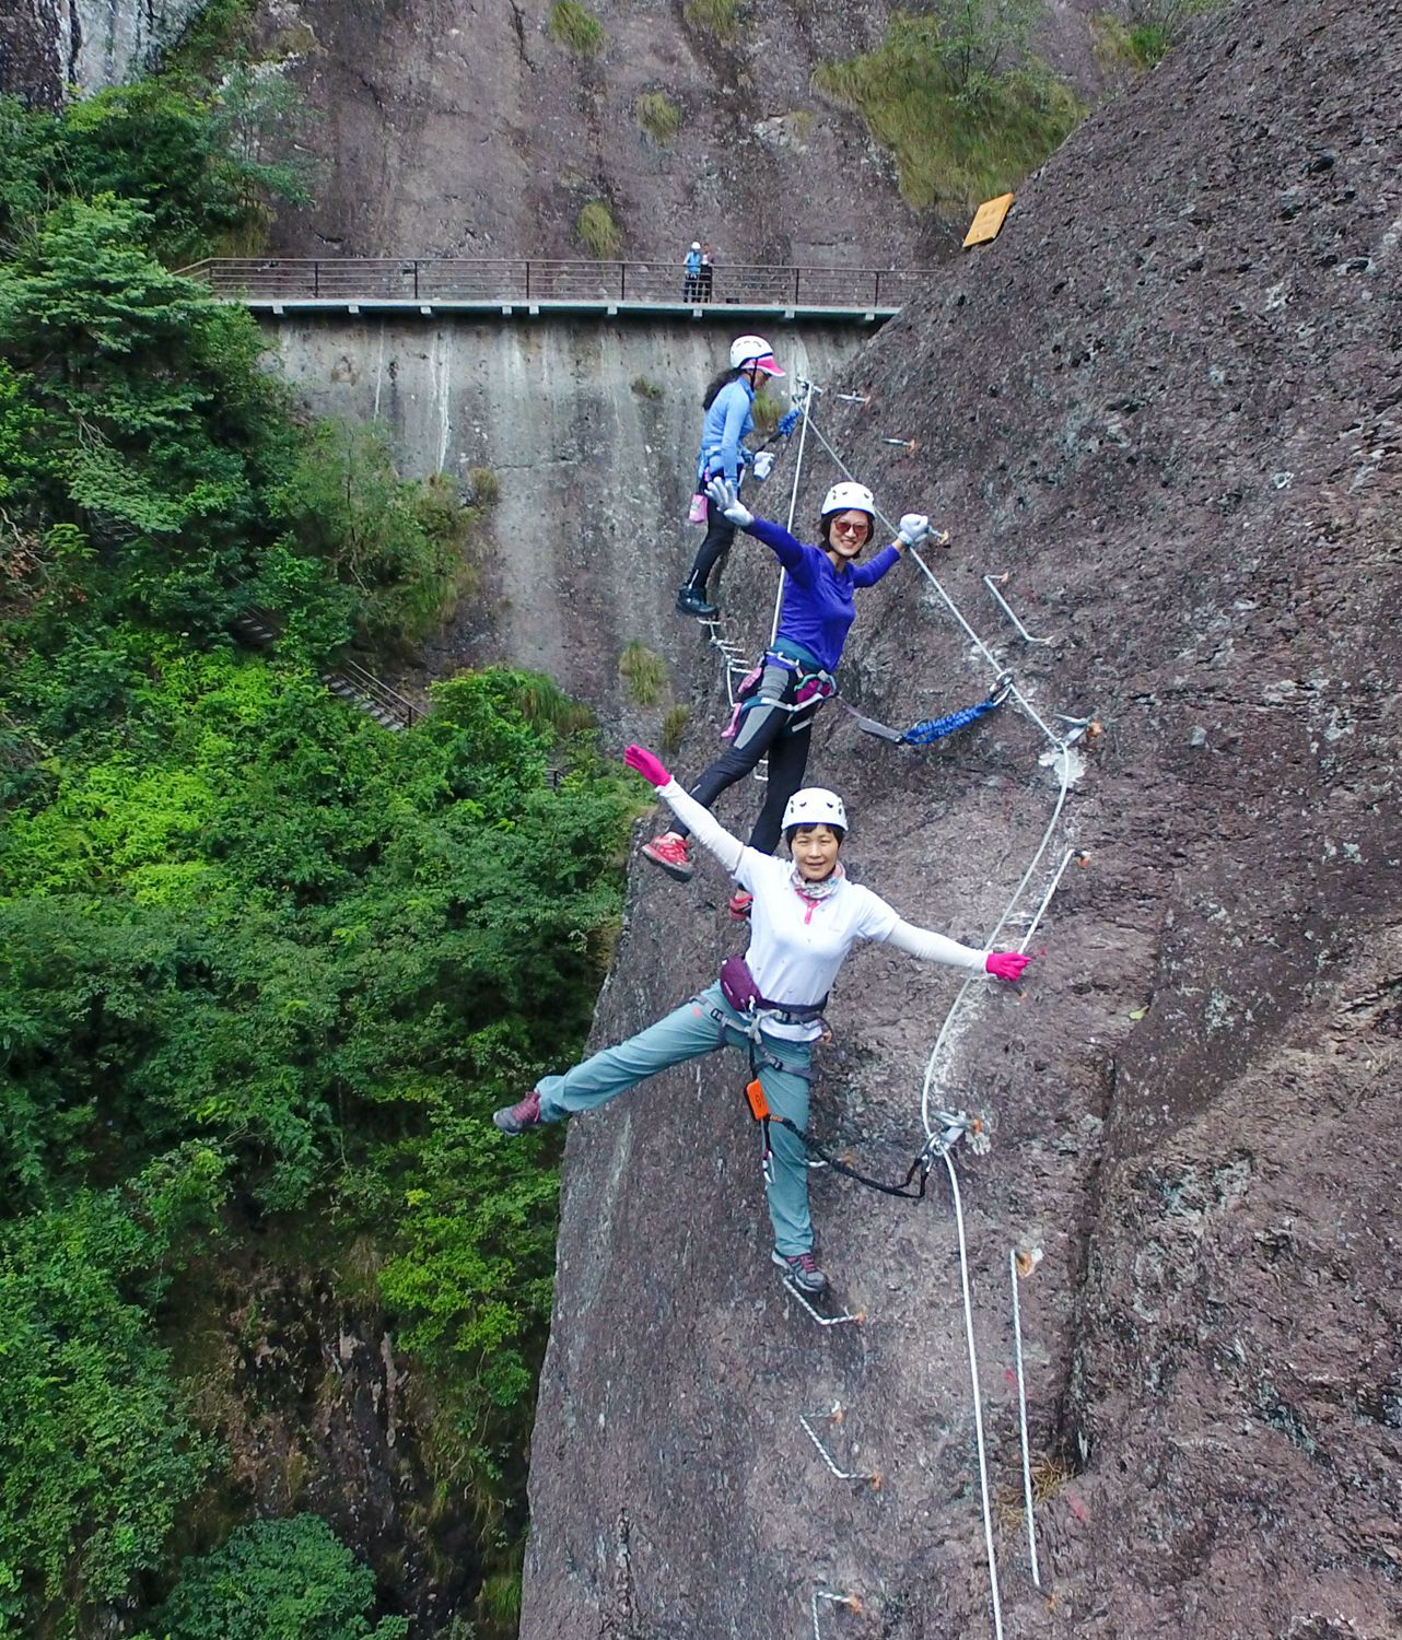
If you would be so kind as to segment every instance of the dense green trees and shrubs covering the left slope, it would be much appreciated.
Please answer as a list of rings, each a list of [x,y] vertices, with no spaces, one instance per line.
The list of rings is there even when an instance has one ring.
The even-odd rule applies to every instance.
[[[484,1118],[582,1041],[633,794],[546,679],[459,676],[398,735],[321,686],[436,626],[477,515],[307,426],[171,271],[290,185],[203,49],[62,116],[0,100],[0,1633],[110,1632],[221,1535],[189,1528],[225,1456],[179,1278],[274,1223],[374,1245],[508,1622],[556,1176]],[[303,1517],[143,1620],[390,1640],[372,1597]]]

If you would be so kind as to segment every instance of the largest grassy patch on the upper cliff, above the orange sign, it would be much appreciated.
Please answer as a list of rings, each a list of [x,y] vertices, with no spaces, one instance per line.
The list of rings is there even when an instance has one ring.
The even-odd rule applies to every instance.
[[[876,51],[822,64],[813,85],[890,149],[913,210],[971,208],[1015,187],[1086,115],[1038,57],[1005,71],[971,66],[933,16],[897,16]]]

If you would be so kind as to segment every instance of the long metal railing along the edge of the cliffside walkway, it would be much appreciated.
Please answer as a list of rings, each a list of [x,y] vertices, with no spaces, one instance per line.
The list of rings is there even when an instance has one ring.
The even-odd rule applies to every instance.
[[[216,256],[182,269],[246,302],[638,302],[679,307],[899,308],[931,267],[721,266],[466,257]]]

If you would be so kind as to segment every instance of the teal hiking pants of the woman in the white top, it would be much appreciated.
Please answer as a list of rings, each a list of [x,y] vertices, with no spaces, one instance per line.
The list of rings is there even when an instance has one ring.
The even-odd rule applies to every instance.
[[[721,1015],[720,1020],[717,1014]],[[710,986],[656,1025],[640,1030],[628,1041],[620,1041],[617,1048],[602,1048],[564,1076],[543,1077],[538,1084],[541,1122],[559,1122],[576,1110],[594,1110],[595,1105],[626,1094],[630,1087],[656,1076],[658,1071],[703,1053],[715,1053],[717,1048],[740,1048],[744,1053],[748,1041],[741,1017],[725,1000],[720,986]],[[776,1115],[787,1117],[795,1127],[807,1128],[812,1045],[766,1036],[764,1058],[777,1059],[782,1066],[781,1069],[761,1063],[759,1068],[769,1109]],[[769,1127],[769,1141],[774,1146],[774,1161],[766,1194],[769,1219],[774,1223],[774,1246],[792,1258],[795,1253],[812,1251],[813,1246],[813,1223],[808,1217],[808,1153],[803,1141],[777,1122]]]

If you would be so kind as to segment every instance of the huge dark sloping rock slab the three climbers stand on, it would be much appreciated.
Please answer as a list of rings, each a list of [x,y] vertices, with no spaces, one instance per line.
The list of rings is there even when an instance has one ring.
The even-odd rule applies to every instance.
[[[871,405],[818,412],[887,512],[956,531],[936,567],[1036,710],[1107,730],[1020,902],[1082,851],[1025,994],[976,986],[933,1071],[936,1102],[994,1122],[959,1169],[1008,1635],[1402,1632],[1399,39],[1397,0],[1213,15],[831,384]],[[728,587],[756,641],[761,556]],[[981,584],[1005,571],[1053,646],[1013,641]],[[887,722],[989,677],[908,564],[851,653],[849,697]],[[810,768],[854,810],[853,869],[984,943],[1053,815],[1043,746],[1013,708],[933,751],[830,710]],[[726,892],[640,864],[602,1040],[740,946]],[[825,1138],[904,1168],[954,991],[884,950],[849,963]],[[869,1315],[822,1332],[767,1264],[741,1081],[705,1059],[571,1132],[521,1633],[800,1635],[817,1588],[864,1602],[823,1635],[992,1633],[948,1187],[910,1207],[815,1176],[825,1263]],[[1043,1253],[1041,1594],[1018,1245]],[[835,1456],[879,1491],[799,1425],[833,1402]]]

